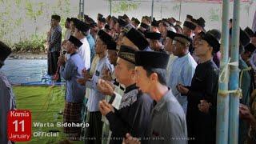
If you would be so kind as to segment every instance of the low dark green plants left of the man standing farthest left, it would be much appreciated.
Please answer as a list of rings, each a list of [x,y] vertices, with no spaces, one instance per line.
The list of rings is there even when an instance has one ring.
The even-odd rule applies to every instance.
[[[45,50],[45,39],[38,35],[32,35],[31,38],[26,39],[24,41],[20,41],[15,43],[13,49],[15,52],[18,51],[31,51],[31,52],[38,52]]]

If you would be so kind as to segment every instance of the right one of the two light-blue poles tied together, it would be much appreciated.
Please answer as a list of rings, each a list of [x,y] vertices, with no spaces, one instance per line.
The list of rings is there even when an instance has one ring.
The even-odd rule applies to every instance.
[[[240,34],[240,0],[234,0],[233,22],[232,22],[232,46],[231,62],[239,61],[239,34]],[[230,66],[230,90],[238,90],[239,86],[238,65]],[[230,122],[229,143],[238,143],[239,126],[239,93],[230,94]]]

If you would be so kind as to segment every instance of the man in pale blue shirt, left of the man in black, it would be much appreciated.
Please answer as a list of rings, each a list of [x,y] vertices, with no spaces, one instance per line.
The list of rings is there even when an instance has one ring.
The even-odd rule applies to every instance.
[[[186,114],[187,99],[186,96],[182,96],[176,86],[182,84],[183,86],[190,86],[194,70],[197,66],[197,62],[190,55],[189,46],[191,39],[183,34],[176,34],[173,41],[174,55],[178,56],[171,66],[170,78],[167,83],[170,86],[174,96],[178,102],[182,105],[182,108]]]

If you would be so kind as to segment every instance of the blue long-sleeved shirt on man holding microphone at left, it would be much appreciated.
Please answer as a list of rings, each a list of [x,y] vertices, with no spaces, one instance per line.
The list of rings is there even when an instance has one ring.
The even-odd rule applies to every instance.
[[[82,78],[84,62],[79,54],[71,54],[65,67],[61,66],[60,74],[66,80],[66,102],[83,102],[85,87],[81,86],[78,78]]]

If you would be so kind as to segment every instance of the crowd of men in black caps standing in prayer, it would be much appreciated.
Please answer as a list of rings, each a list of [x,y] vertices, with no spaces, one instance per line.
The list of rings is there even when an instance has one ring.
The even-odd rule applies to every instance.
[[[69,141],[215,143],[221,32],[204,18],[84,15],[66,18],[64,40],[60,20],[47,32],[48,74],[66,80],[63,122],[89,124],[64,127]],[[232,19],[229,28],[231,40]],[[256,32],[241,28],[239,144],[256,142],[255,46]],[[10,49],[0,51],[2,67]]]

